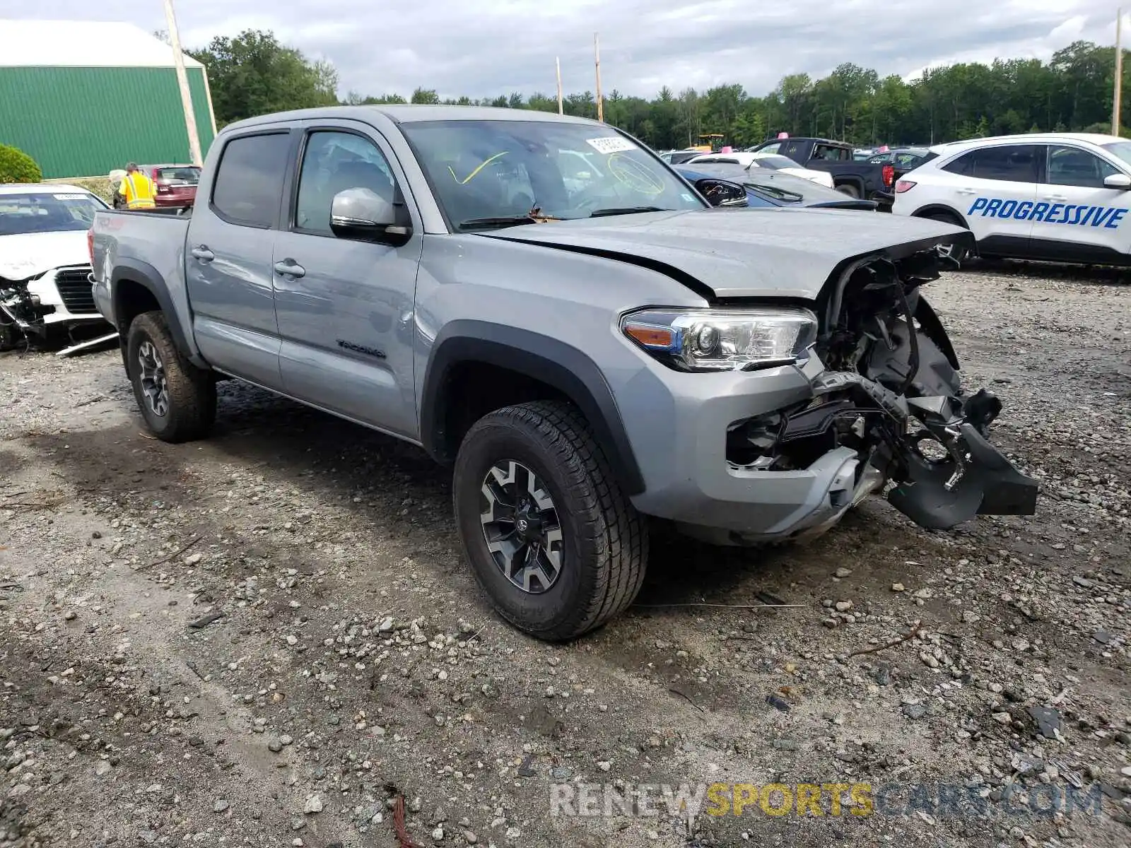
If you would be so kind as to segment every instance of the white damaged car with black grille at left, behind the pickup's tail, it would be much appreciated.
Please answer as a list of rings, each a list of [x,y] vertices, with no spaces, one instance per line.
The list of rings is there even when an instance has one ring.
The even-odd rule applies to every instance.
[[[75,185],[0,185],[0,349],[52,328],[105,323],[92,295],[87,231],[107,208]]]

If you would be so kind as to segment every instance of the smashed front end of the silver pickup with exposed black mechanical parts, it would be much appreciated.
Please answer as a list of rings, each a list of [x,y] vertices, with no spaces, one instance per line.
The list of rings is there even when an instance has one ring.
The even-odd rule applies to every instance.
[[[817,520],[794,538],[823,533],[880,491],[930,529],[1036,511],[1036,482],[988,440],[1001,401],[962,390],[950,339],[920,291],[953,265],[932,245],[838,269],[817,302],[818,337],[805,364],[812,397],[729,429],[735,469],[840,462]]]

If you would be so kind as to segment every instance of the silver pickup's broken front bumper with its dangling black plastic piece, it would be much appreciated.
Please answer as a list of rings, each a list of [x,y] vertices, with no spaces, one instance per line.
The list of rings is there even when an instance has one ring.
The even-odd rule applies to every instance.
[[[797,539],[828,530],[853,505],[884,488],[892,478],[889,452],[839,445],[804,467],[769,470],[732,461],[727,432],[759,416],[819,406],[818,387],[830,377],[839,375],[826,371],[815,355],[800,366],[751,373],[675,374],[674,379],[665,374],[661,382],[667,396],[656,410],[661,415],[653,418],[663,423],[651,427],[648,448],[650,456],[657,456],[657,442],[666,442],[665,461],[644,469],[647,488],[633,497],[634,505],[715,544]],[[651,381],[637,387],[641,395],[645,382]],[[961,473],[946,462],[913,459],[909,468],[899,465],[900,485],[889,495],[892,504],[932,528],[950,527],[977,513],[1030,514],[1035,482],[984,439],[973,444],[975,439],[969,434],[956,450],[965,456]],[[959,483],[947,487],[951,478]]]

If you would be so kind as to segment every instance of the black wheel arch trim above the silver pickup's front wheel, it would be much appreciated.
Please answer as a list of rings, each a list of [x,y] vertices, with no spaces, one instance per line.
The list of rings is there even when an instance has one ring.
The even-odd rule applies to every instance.
[[[454,369],[469,362],[515,371],[561,391],[589,422],[624,493],[644,492],[644,475],[613,391],[597,364],[558,339],[487,321],[451,321],[437,336],[429,357],[421,399],[421,442],[437,461],[450,464],[458,450],[444,431],[444,389]]]

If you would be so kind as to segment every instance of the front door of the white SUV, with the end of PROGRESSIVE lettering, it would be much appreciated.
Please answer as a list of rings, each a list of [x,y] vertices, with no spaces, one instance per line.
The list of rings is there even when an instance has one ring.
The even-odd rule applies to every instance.
[[[1124,173],[1090,150],[1071,144],[1045,148],[1044,176],[1033,209],[1033,251],[1043,259],[1071,262],[1123,261],[1131,240],[1124,222],[1126,189],[1104,179]]]

